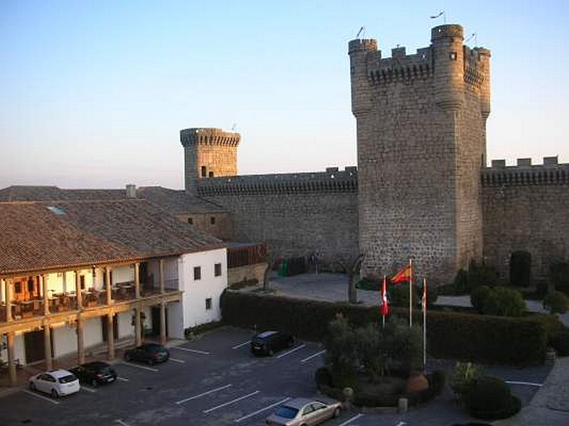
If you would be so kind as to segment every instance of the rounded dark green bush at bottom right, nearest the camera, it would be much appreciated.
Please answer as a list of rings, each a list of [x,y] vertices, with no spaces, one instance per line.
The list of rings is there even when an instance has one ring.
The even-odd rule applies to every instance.
[[[521,409],[509,386],[492,376],[478,378],[465,394],[465,402],[470,415],[484,420],[505,419]]]

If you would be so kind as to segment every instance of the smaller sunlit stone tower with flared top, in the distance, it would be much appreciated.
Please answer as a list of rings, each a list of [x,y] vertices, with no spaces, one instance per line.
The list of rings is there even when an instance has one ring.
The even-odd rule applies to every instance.
[[[195,194],[200,179],[237,175],[237,147],[240,139],[239,133],[221,129],[181,130],[186,192]]]

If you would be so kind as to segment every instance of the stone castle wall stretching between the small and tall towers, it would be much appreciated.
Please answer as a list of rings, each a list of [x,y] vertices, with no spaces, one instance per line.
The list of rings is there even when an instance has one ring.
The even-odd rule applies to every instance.
[[[198,194],[233,213],[235,239],[263,241],[278,256],[319,253],[324,263],[358,255],[357,172],[203,180]]]

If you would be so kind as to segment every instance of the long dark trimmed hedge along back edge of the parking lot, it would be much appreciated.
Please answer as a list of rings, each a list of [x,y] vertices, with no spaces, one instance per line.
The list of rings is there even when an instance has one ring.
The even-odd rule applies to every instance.
[[[378,307],[255,295],[225,290],[223,322],[236,327],[280,329],[301,339],[322,341],[328,323],[341,312],[353,325],[381,322]],[[392,315],[408,317],[405,308]],[[420,311],[413,312],[415,320]],[[435,358],[482,363],[538,364],[546,354],[546,324],[534,317],[506,318],[457,312],[427,312],[427,351]]]

